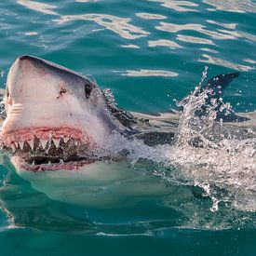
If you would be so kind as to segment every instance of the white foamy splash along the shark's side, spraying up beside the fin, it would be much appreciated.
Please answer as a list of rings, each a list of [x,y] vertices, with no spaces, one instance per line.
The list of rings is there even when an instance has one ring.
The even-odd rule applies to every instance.
[[[222,98],[214,98],[210,88],[204,88],[207,72],[208,67],[195,90],[180,102],[182,115],[173,145],[150,147],[115,134],[110,148],[116,154],[125,148],[134,169],[172,184],[202,188],[202,196],[212,201],[213,212],[220,204],[255,212],[256,138],[252,133],[251,138],[237,137],[242,129],[239,123],[232,124],[235,135],[222,119],[216,121],[217,112],[229,115],[232,107]]]

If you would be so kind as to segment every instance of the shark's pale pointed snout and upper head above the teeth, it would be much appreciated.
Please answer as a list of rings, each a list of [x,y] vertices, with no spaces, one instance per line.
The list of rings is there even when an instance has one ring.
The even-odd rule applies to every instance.
[[[4,135],[68,128],[101,143],[115,127],[100,88],[80,74],[33,56],[20,56],[12,64],[5,104]]]

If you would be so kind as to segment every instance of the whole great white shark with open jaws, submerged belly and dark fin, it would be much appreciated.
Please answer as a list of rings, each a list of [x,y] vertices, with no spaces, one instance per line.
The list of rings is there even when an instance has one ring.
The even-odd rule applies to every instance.
[[[205,115],[206,105],[214,98],[216,121],[248,121],[249,117],[219,111],[223,89],[237,76],[220,74],[209,79],[202,86],[209,89],[209,100],[195,115]],[[128,169],[128,152],[105,152],[105,144],[117,133],[147,146],[171,145],[179,112],[168,118],[131,114],[119,109],[108,91],[87,77],[33,56],[14,61],[3,101],[2,149],[11,155],[17,173],[50,198],[102,207],[132,196],[174,193],[166,182]],[[230,129],[236,132],[237,127]],[[200,139],[191,144],[200,146]],[[108,194],[97,193],[106,187]]]

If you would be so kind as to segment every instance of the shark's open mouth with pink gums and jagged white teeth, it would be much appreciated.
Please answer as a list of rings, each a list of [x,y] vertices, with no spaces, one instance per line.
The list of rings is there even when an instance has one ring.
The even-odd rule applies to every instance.
[[[2,134],[14,164],[30,171],[79,169],[96,161],[97,144],[75,128],[22,128]]]

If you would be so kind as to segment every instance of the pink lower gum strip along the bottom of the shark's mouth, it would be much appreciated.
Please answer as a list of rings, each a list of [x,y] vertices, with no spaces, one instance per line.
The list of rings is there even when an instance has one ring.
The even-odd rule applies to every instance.
[[[11,162],[15,168],[27,170],[27,171],[56,171],[56,170],[79,170],[89,164],[94,163],[93,160],[81,160],[75,162],[66,162],[66,163],[48,163],[41,165],[30,165],[20,156],[12,156]]]

